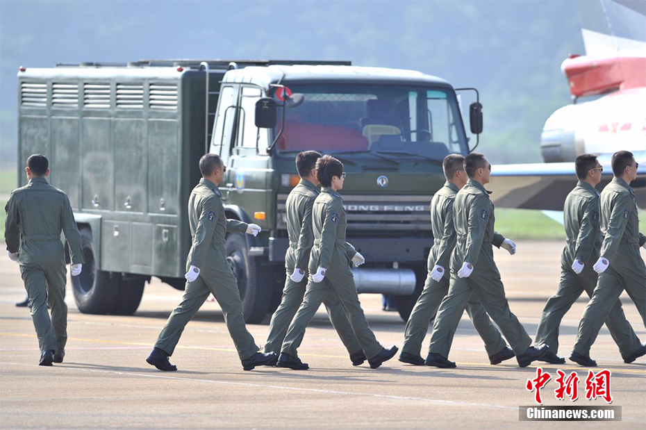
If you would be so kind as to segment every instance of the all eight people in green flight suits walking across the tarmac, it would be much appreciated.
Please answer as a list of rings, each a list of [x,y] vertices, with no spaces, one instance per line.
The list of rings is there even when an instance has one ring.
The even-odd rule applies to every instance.
[[[26,164],[28,184],[14,190],[6,205],[5,240],[9,258],[20,265],[28,293],[40,365],[52,365],[63,363],[67,342],[66,267],[60,233],[65,233],[69,244],[72,276],[82,271],[81,235],[67,195],[46,179],[47,158],[35,154]],[[494,231],[494,206],[485,188],[490,181],[490,163],[474,153],[449,155],[442,165],[447,181],[431,201],[434,242],[429,272],[408,318],[399,361],[456,367],[448,356],[466,309],[492,365],[513,357],[520,367],[533,361],[565,363],[557,355],[558,327],[583,291],[590,301],[570,360],[587,367],[597,365],[590,358],[590,347],[604,323],[625,363],[646,354],[619,300],[626,290],[646,325],[646,265],[639,251],[639,247],[646,247],[646,236],[638,231],[636,197],[630,187],[638,167],[633,154],[618,151],[613,155],[614,177],[600,194],[595,189],[602,174],[597,157],[577,157],[579,182],[563,209],[567,243],[561,256],[561,281],[556,295],[545,304],[533,345],[509,308],[493,258],[492,247],[502,247],[513,255],[516,245]],[[286,203],[290,243],[285,254],[287,279],[263,352],[245,326],[238,283],[224,248],[226,233],[257,235],[260,227],[226,219],[217,188],[226,166],[219,156],[206,154],[199,160],[202,179],[188,201],[192,247],[186,261],[185,292],[147,357],[149,364],[159,370],[177,369],[169,356],[184,327],[210,294],[222,308],[244,370],[258,365],[308,369],[297,351],[321,304],[352,365],[367,360],[376,369],[397,354],[396,346],[386,348],[376,340],[358,299],[350,267],[365,263],[365,259],[345,240],[347,220],[339,194],[345,181],[342,163],[332,156],[304,151],[298,154],[296,167],[301,181]],[[431,342],[424,359],[422,342],[430,324]]]

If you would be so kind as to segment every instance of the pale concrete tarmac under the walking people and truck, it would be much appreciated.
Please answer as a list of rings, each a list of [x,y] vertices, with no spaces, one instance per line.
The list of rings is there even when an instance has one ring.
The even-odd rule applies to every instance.
[[[511,311],[533,338],[560,272],[560,242],[518,242],[509,256],[495,250]],[[646,253],[642,251],[646,257]],[[85,315],[74,304],[68,282],[69,323],[65,363],[39,367],[38,340],[18,266],[0,259],[0,426],[129,428],[469,428],[553,429],[639,428],[646,424],[646,359],[623,363],[604,327],[591,356],[611,370],[611,406],[622,407],[622,422],[519,422],[519,406],[538,406],[525,388],[536,367],[552,374],[543,388],[545,406],[608,406],[586,399],[588,370],[568,361],[534,363],[521,369],[514,359],[490,365],[483,344],[465,314],[449,358],[456,369],[399,363],[397,357],[372,370],[353,367],[336,332],[320,310],[299,355],[310,370],[256,367],[244,372],[226,331],[220,308],[207,302],[185,329],[171,361],[177,372],[160,372],[145,362],[181,291],[154,279],[141,306],[129,317]],[[362,306],[385,346],[404,338],[397,313],[381,311],[381,296],[361,295]],[[646,330],[629,297],[624,312],[644,342]],[[581,297],[561,325],[559,355],[568,356],[587,298]],[[269,316],[249,325],[263,345]],[[429,337],[424,340],[426,355]],[[556,370],[579,373],[579,399],[554,396]]]

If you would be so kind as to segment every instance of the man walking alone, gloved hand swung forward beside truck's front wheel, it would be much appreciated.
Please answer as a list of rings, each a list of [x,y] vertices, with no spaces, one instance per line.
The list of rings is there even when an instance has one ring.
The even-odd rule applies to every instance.
[[[188,221],[193,238],[186,259],[188,282],[181,303],[168,317],[146,361],[159,370],[177,370],[168,357],[172,356],[186,324],[213,293],[224,313],[226,328],[238,350],[242,368],[252,370],[258,365],[274,365],[276,354],[258,352],[254,338],[247,331],[238,281],[226,261],[224,247],[227,231],[256,235],[260,227],[226,219],[222,195],[217,189],[217,184],[224,179],[226,167],[219,156],[205,154],[199,160],[199,169],[202,179],[188,199]]]

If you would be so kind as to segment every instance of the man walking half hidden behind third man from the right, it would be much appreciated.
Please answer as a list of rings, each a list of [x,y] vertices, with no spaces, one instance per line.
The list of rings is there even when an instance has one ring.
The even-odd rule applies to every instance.
[[[431,226],[433,229],[433,247],[429,254],[429,274],[426,276],[424,290],[417,299],[415,307],[406,322],[404,345],[401,347],[399,361],[413,365],[424,365],[420,356],[422,341],[433,324],[440,301],[449,292],[449,258],[456,243],[456,231],[453,224],[453,202],[457,192],[467,182],[467,172],[464,170],[464,157],[450,154],[444,159],[443,167],[447,182],[433,196],[431,201]],[[513,254],[515,244],[497,235],[494,240],[497,247],[504,247]],[[477,297],[471,296],[467,303],[467,314],[474,327],[485,342],[485,349],[491,364],[513,358],[511,348],[507,347],[498,329],[491,323],[489,316]],[[430,322],[430,323],[429,323]]]

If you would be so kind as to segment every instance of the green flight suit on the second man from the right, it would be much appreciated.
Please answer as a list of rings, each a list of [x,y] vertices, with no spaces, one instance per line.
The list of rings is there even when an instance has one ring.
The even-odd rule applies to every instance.
[[[549,351],[558,352],[558,326],[583,291],[593,297],[597,272],[593,265],[599,258],[601,233],[599,231],[599,192],[589,183],[579,181],[565,199],[563,207],[565,235],[568,240],[561,254],[561,281],[556,295],[550,297],[536,329],[536,345],[545,343]],[[580,274],[574,273],[572,263],[584,264]],[[641,347],[621,306],[616,300],[606,318],[606,326],[619,346],[622,356],[629,356]]]

